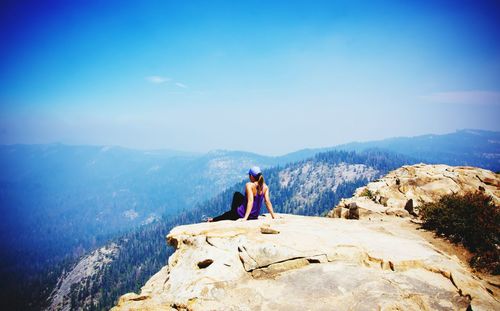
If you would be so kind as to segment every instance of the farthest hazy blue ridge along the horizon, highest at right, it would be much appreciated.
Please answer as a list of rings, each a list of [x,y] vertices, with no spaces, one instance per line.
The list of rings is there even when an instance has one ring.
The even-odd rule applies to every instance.
[[[391,137],[372,141],[353,141],[330,147],[304,148],[278,156],[257,154],[250,151],[214,149],[208,152],[192,152],[176,149],[135,149],[117,145],[71,145],[49,144],[0,144],[0,151],[6,147],[31,148],[105,148],[159,156],[249,156],[270,162],[271,165],[300,161],[313,155],[330,150],[363,151],[379,148],[421,158],[429,163],[450,165],[472,165],[490,170],[500,170],[500,132],[480,129],[461,129],[447,134],[423,134],[417,136]]]

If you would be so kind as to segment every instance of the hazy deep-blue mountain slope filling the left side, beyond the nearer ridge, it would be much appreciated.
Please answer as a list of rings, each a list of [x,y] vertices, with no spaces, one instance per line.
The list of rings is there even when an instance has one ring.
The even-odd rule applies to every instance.
[[[0,301],[30,308],[28,302],[47,297],[62,267],[112,237],[214,196],[254,163],[266,168],[313,152],[268,157],[224,150],[0,146]]]

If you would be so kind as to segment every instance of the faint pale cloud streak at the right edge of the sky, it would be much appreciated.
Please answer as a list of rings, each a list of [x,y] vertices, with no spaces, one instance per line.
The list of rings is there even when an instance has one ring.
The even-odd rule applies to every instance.
[[[500,104],[500,92],[492,91],[438,92],[422,96],[422,98],[443,104]]]

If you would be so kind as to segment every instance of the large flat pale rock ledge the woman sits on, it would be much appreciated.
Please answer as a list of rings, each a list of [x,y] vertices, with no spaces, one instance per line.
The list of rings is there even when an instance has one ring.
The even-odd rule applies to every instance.
[[[174,228],[168,265],[112,310],[500,309],[405,218],[266,216]]]

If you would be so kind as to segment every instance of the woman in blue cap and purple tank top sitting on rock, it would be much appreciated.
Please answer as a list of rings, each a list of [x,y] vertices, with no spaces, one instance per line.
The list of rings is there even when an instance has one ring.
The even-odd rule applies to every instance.
[[[262,201],[265,202],[267,210],[274,217],[273,205],[269,199],[269,187],[264,182],[264,176],[258,166],[252,167],[248,171],[250,182],[245,185],[245,194],[235,192],[233,195],[233,202],[231,203],[231,210],[224,214],[208,218],[209,222],[219,220],[248,220],[257,219],[260,214],[260,207]]]

